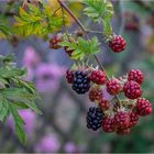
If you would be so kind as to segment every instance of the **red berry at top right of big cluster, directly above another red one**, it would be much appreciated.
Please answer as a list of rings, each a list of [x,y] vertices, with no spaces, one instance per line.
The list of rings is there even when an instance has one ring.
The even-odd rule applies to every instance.
[[[132,69],[128,75],[128,80],[134,80],[141,85],[144,80],[144,75],[140,69]]]

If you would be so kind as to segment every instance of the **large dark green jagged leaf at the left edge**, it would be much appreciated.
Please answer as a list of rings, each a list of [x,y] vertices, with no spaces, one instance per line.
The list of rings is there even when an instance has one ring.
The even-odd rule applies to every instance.
[[[21,12],[24,13],[24,12]],[[6,121],[9,116],[13,117],[15,132],[21,142],[25,143],[24,121],[18,113],[19,109],[32,109],[36,113],[42,113],[34,100],[38,98],[35,86],[23,79],[25,69],[16,68],[15,65],[9,65],[14,56],[0,55],[0,121]]]

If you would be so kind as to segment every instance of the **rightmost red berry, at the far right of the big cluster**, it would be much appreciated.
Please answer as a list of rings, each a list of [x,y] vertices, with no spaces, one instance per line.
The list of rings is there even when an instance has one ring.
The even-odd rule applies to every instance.
[[[148,116],[153,112],[153,107],[148,100],[139,98],[136,100],[135,110],[139,116]]]

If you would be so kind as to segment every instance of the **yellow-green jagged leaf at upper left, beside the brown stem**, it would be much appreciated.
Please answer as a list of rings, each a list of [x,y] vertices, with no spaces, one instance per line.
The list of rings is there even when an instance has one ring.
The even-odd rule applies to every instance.
[[[57,31],[63,26],[63,18],[54,12],[47,2],[40,6],[29,4],[25,11],[20,8],[20,16],[15,16],[14,32],[22,36],[44,35]]]

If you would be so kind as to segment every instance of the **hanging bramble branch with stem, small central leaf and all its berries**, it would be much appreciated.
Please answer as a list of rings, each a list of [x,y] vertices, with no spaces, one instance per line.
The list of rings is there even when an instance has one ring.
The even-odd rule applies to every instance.
[[[98,38],[96,36],[89,38],[80,21],[64,2],[58,1],[62,8],[78,23],[84,33],[77,35],[76,38],[67,32],[63,35],[55,35],[50,41],[50,47],[54,50],[64,47],[68,56],[78,62],[77,65],[66,72],[66,79],[76,94],[88,94],[89,100],[95,105],[87,112],[87,128],[94,131],[101,128],[107,133],[129,134],[131,129],[139,122],[140,117],[148,116],[153,111],[152,103],[142,98],[143,73],[140,69],[132,69],[127,76],[110,79],[96,56],[100,52]],[[110,15],[112,15],[111,3],[99,2],[100,4],[105,2],[109,7]],[[90,16],[90,14],[88,15]],[[109,29],[105,26],[105,32],[108,46],[114,53],[123,52],[127,47],[127,41],[120,35],[112,34],[110,24],[107,25]],[[84,34],[87,37],[86,40]],[[99,66],[92,67],[92,65],[89,65],[89,57],[91,56],[95,57]],[[106,97],[103,89],[110,95],[110,99]]]

